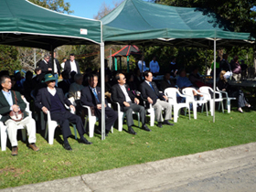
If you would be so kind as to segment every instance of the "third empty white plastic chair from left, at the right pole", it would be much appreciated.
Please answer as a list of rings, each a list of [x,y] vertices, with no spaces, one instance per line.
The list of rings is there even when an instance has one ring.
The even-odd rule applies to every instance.
[[[213,116],[213,104],[214,103],[213,103],[213,98],[211,97],[209,91],[211,91],[212,93],[214,91],[208,86],[200,87],[199,91],[202,92],[202,93],[206,93],[208,95],[208,96],[206,96],[206,100],[209,101],[209,111],[210,111],[211,116]],[[215,102],[221,102],[222,112],[224,112],[222,95],[219,91],[215,91],[215,93],[219,96],[218,98],[215,98]]]

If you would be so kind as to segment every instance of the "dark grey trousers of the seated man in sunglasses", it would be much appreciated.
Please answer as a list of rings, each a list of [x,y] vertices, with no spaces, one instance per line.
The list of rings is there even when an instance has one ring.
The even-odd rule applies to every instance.
[[[139,112],[142,123],[144,124],[145,112],[144,107],[133,102],[128,102],[130,107],[123,107],[123,112],[126,113],[126,123],[128,126],[132,126],[133,123],[133,112]]]

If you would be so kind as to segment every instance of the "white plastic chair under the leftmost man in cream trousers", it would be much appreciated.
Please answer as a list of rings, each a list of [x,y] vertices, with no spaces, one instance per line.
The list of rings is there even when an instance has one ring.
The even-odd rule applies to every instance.
[[[23,101],[26,102],[27,107],[25,111],[28,113],[28,116],[32,118],[32,112],[29,110],[29,102],[27,102],[26,98],[22,95],[21,98]],[[0,115],[0,119],[2,118],[2,115]],[[24,126],[19,125],[17,129],[21,129],[22,133],[22,140],[25,142],[26,141],[26,129]],[[7,127],[3,122],[0,122],[0,133],[1,133],[1,149],[2,151],[6,150],[6,142],[7,142]]]

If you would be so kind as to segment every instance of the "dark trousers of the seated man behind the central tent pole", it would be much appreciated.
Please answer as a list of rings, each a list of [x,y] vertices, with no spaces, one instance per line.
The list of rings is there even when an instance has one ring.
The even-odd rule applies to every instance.
[[[99,118],[100,123],[101,123],[101,110],[96,109],[95,115],[96,115],[96,117]],[[114,112],[112,110],[112,108],[110,108],[110,107],[106,107],[105,108],[105,116],[106,116],[105,128],[106,128],[106,132],[108,133],[112,129],[112,125],[117,119],[117,112]]]

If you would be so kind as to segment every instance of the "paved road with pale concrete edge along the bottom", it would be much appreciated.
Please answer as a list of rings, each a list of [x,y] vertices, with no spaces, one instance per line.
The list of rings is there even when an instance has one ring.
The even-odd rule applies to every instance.
[[[131,165],[0,192],[256,191],[256,143]]]

